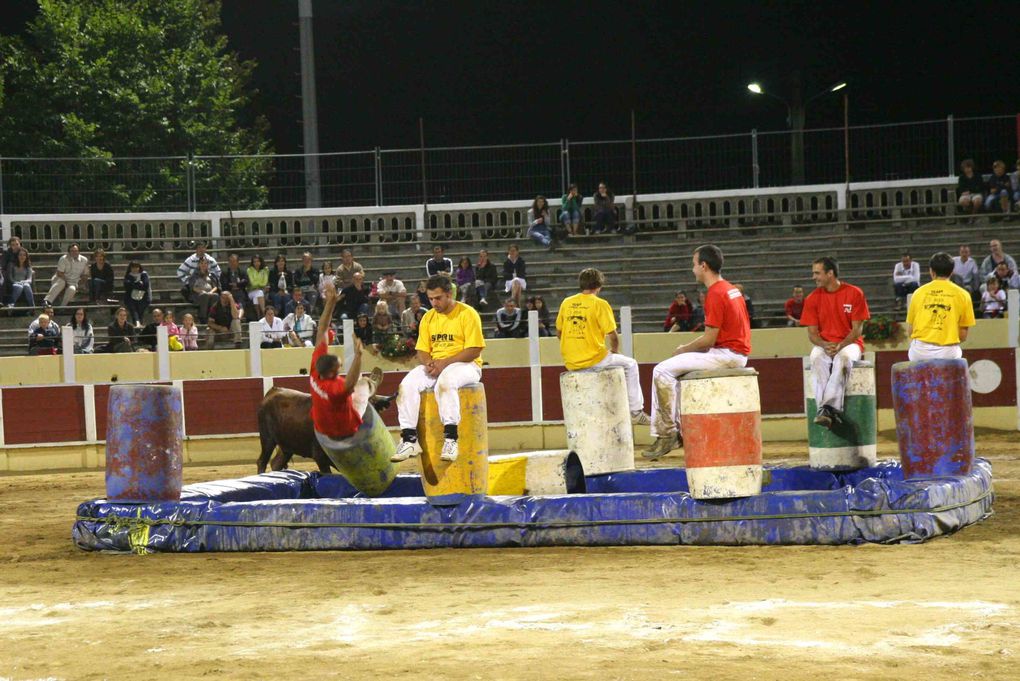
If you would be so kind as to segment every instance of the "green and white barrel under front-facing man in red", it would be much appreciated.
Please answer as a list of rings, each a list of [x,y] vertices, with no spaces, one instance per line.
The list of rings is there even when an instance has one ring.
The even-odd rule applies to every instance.
[[[815,423],[818,404],[811,361],[804,358],[804,406],[808,417],[808,460],[819,470],[855,470],[874,466],[878,456],[878,413],[875,367],[855,362],[844,401],[844,423],[829,430]]]

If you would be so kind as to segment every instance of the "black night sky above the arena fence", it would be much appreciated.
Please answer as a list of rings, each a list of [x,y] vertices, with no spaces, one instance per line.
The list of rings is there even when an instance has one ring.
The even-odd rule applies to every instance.
[[[224,0],[278,152],[301,150],[297,0]],[[16,31],[34,3],[11,9]],[[321,151],[782,129],[850,82],[851,124],[1020,110],[1020,3],[315,0]],[[5,3],[5,10],[8,9]],[[842,125],[830,95],[807,126]]]

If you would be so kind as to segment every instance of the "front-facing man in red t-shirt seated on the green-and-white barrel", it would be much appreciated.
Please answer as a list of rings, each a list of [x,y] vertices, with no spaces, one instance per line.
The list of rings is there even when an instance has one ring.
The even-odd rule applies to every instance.
[[[864,292],[839,280],[834,258],[819,258],[811,266],[818,287],[804,299],[801,326],[808,327],[811,375],[818,414],[815,423],[831,428],[843,418],[844,392],[854,362],[864,352],[864,322],[871,318]]]

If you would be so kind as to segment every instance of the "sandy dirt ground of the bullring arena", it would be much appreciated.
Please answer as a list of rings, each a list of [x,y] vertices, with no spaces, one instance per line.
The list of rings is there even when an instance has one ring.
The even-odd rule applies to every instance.
[[[996,515],[897,546],[107,556],[101,472],[0,477],[0,679],[1017,679],[1020,440],[978,451]]]

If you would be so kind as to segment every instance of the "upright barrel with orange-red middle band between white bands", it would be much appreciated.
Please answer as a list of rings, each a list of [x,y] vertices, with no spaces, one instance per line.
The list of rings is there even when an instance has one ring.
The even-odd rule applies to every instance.
[[[754,369],[693,371],[680,377],[687,486],[695,499],[762,490],[762,412]]]

